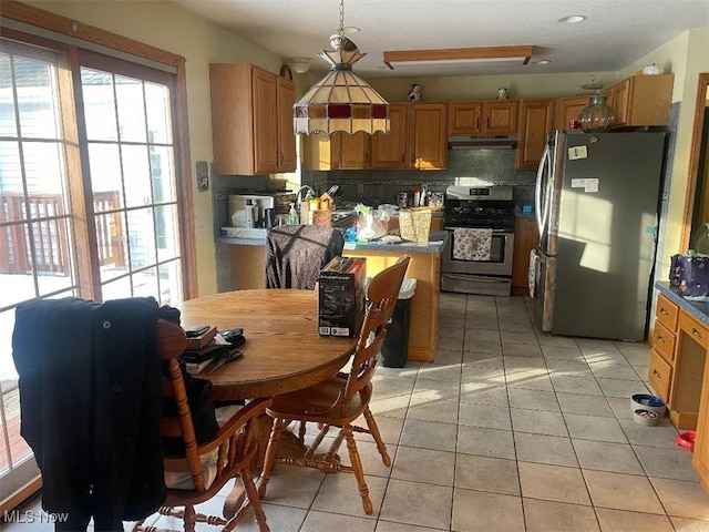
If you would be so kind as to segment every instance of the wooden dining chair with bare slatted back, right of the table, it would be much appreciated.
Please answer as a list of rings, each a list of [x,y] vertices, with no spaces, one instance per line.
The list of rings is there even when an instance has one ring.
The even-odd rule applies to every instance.
[[[377,274],[369,283],[364,319],[349,372],[338,372],[309,388],[276,396],[271,406],[266,409],[268,416],[274,418],[274,427],[261,471],[259,487],[261,498],[266,495],[275,463],[315,468],[326,472],[347,471],[353,472],[357,478],[364,512],[372,513],[372,502],[353,433],[371,434],[382,462],[387,467],[391,466],[391,458],[369,409],[369,401],[372,397],[372,377],[377,357],[384,341],[387,324],[393,314],[409,260],[409,256],[400,257],[394,265]],[[364,418],[366,428],[354,424],[361,416]],[[279,440],[291,420],[317,423],[320,430],[301,457],[276,458]],[[331,427],[339,428],[332,444],[327,452],[316,454]],[[343,440],[347,442],[350,466],[342,464],[337,454]]]

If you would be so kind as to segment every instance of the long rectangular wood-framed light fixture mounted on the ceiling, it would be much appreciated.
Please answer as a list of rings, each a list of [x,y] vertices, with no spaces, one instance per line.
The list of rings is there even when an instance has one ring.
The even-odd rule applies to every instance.
[[[421,64],[466,64],[514,61],[527,64],[534,47],[446,48],[439,50],[399,50],[384,52],[384,64],[394,66]]]

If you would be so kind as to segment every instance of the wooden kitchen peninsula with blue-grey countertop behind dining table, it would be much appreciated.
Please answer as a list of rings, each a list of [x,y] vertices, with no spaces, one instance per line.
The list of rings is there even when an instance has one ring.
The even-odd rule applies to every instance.
[[[432,231],[429,242],[346,242],[342,255],[367,258],[367,275],[373,276],[392,265],[401,255],[411,262],[407,277],[417,279],[410,303],[409,360],[432,362],[438,345],[439,298],[441,283],[441,250],[448,233]],[[234,245],[234,275],[236,289],[265,286],[265,241],[258,238],[217,238],[219,244]]]

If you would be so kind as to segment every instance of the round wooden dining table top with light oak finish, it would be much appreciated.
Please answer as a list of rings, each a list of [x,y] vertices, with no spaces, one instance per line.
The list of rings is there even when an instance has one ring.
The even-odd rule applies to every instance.
[[[244,329],[244,356],[199,375],[213,382],[213,397],[222,401],[273,397],[320,382],[348,362],[357,342],[318,335],[315,290],[235,290],[176,307],[183,327]]]

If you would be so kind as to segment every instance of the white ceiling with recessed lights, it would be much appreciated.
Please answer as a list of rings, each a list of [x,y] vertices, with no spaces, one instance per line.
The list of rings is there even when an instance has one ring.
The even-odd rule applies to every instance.
[[[338,0],[173,0],[284,59],[317,57],[339,29]],[[583,14],[579,23],[562,17]],[[364,78],[617,71],[688,29],[709,28],[708,0],[345,0],[346,35]],[[389,70],[383,52],[533,45],[528,64],[484,62]],[[548,64],[534,64],[549,60]],[[666,65],[671,66],[671,65]],[[296,74],[297,75],[297,74]]]

